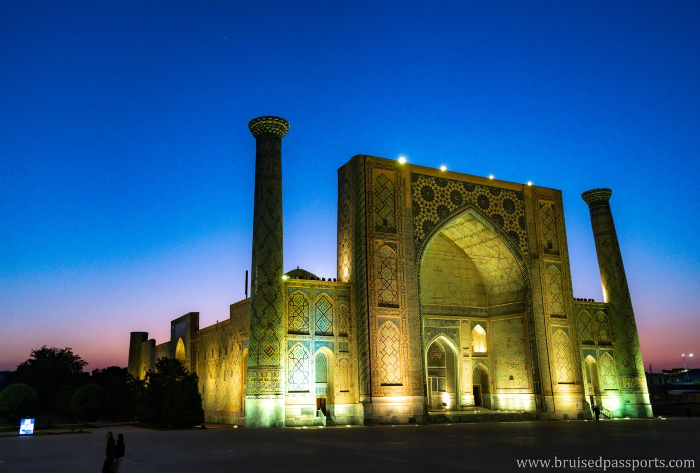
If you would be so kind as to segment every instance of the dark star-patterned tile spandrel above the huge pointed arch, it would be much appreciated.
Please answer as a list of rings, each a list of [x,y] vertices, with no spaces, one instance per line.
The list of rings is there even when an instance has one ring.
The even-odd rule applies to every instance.
[[[411,173],[411,182],[416,251],[442,220],[472,206],[502,230],[521,253],[527,253],[522,192],[416,173]]]

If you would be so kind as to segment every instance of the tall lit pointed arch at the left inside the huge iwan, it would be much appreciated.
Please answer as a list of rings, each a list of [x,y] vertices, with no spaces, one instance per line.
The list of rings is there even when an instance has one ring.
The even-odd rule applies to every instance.
[[[437,337],[428,345],[426,367],[430,409],[456,409],[456,401],[459,399],[458,356],[456,348],[447,337]]]

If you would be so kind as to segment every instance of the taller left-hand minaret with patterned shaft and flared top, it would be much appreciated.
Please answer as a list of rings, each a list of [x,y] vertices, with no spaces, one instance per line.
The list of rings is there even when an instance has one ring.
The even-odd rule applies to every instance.
[[[260,117],[248,128],[256,144],[246,427],[283,427],[282,138],[289,123]]]

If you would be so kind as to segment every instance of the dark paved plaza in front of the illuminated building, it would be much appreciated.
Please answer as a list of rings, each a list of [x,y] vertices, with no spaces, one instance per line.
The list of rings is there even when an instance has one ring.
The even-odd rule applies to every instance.
[[[0,473],[99,472],[107,430],[125,436],[125,473],[540,472],[545,468],[519,469],[516,460],[555,456],[692,459],[700,465],[700,419],[668,418],[268,430],[113,425],[82,435],[0,437]]]

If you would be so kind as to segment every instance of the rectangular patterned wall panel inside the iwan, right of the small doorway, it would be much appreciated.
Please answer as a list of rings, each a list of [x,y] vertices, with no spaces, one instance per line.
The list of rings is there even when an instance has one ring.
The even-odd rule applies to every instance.
[[[529,381],[524,319],[494,320],[491,328],[496,388],[527,389]]]

